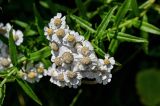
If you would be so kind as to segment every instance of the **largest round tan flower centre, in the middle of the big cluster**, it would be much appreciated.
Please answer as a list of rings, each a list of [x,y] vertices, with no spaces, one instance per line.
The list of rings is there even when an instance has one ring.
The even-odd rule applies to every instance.
[[[72,63],[73,60],[74,60],[73,55],[72,55],[72,53],[70,53],[70,52],[65,52],[65,53],[63,53],[62,59],[63,59],[63,62],[65,62],[65,63],[67,63],[67,64]]]

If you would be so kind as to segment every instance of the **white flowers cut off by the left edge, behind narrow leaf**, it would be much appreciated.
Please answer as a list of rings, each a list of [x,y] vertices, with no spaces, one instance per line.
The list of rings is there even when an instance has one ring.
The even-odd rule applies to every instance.
[[[11,25],[7,23],[5,26],[0,23],[0,35],[9,38],[9,32],[11,30]],[[15,44],[19,46],[23,42],[23,33],[20,30],[12,30],[13,38]],[[0,71],[8,67],[11,67],[11,59],[8,52],[8,46],[0,39]]]

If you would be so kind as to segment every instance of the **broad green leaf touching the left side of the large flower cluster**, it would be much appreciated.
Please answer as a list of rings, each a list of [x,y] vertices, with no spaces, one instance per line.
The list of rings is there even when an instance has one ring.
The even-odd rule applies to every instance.
[[[51,55],[51,49],[49,46],[42,48],[39,51],[34,53],[30,53],[28,59],[29,60],[41,60],[42,58],[46,58]]]

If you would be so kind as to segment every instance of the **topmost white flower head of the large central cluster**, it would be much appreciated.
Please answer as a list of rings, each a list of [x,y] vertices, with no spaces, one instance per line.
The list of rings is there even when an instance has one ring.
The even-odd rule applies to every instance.
[[[50,23],[49,23],[49,28],[52,29],[58,29],[58,28],[65,28],[66,27],[66,17],[63,16],[61,13],[57,13],[56,16],[54,16]]]

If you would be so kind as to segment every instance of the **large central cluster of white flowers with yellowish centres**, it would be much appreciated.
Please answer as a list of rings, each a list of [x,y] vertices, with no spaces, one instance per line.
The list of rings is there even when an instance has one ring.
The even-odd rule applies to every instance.
[[[57,13],[44,27],[52,53],[53,64],[46,71],[50,81],[60,87],[73,88],[81,85],[83,78],[95,79],[104,85],[110,82],[114,58],[106,54],[105,59],[98,59],[91,43],[78,32],[70,30],[65,19]]]

